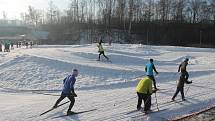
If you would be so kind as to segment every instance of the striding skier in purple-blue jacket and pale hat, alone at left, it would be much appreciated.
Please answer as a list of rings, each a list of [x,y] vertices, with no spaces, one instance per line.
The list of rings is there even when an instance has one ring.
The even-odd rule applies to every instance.
[[[63,80],[63,90],[61,93],[60,98],[56,101],[55,105],[53,106],[53,108],[56,108],[57,105],[65,98],[69,98],[69,100],[71,101],[70,105],[69,105],[69,109],[67,110],[67,115],[71,114],[71,109],[75,103],[75,97],[77,97],[75,91],[74,91],[74,84],[76,82],[76,78],[78,76],[78,70],[77,69],[73,69],[73,73],[72,75],[68,75],[64,80]]]

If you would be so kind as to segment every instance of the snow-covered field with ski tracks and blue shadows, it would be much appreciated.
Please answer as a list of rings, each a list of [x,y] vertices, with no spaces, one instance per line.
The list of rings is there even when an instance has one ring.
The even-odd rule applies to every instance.
[[[38,46],[0,53],[0,120],[1,121],[103,121],[167,120],[198,111],[215,103],[215,49],[120,45],[105,46],[112,63],[97,60],[96,44],[73,46]],[[192,85],[185,86],[187,101],[169,102],[175,92],[178,64],[190,58],[188,71]],[[160,111],[144,115],[136,109],[135,86],[145,76],[149,58],[160,72],[155,78]],[[43,116],[61,93],[62,80],[80,71],[76,82],[73,111],[95,111],[54,118],[65,114],[68,105]],[[63,102],[67,101],[65,99]],[[63,103],[62,102],[62,103]],[[152,110],[157,111],[155,95]]]

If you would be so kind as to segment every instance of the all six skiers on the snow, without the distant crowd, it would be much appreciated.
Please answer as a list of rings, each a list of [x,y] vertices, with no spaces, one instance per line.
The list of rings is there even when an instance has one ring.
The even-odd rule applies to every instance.
[[[107,60],[109,60],[109,58],[107,56],[105,56],[105,54],[104,54],[102,42],[99,42],[98,48],[99,48],[99,60],[100,60],[100,55],[103,55]],[[184,84],[185,83],[187,83],[187,84],[192,83],[192,81],[188,81],[189,74],[188,74],[187,69],[186,69],[186,67],[188,65],[188,61],[189,61],[189,59],[186,58],[184,60],[184,62],[182,62],[179,65],[178,72],[181,72],[181,74],[180,74],[180,79],[178,81],[176,92],[175,92],[174,96],[172,97],[172,101],[175,100],[175,97],[178,95],[179,92],[181,92],[182,100],[184,101],[185,100]],[[147,112],[151,111],[151,95],[153,93],[156,93],[157,90],[159,90],[156,86],[156,80],[155,80],[153,71],[155,71],[156,74],[159,74],[159,73],[157,72],[157,70],[155,68],[155,65],[153,63],[153,59],[150,59],[149,63],[146,64],[145,71],[146,71],[147,76],[139,81],[139,83],[136,86],[136,92],[137,92],[137,96],[138,96],[137,110],[142,109],[141,104],[142,104],[142,101],[144,101],[144,112],[147,113]],[[75,97],[77,97],[77,95],[74,91],[74,84],[76,82],[77,76],[78,76],[78,70],[74,69],[73,73],[71,75],[68,75],[63,80],[64,86],[63,86],[61,96],[56,101],[55,105],[53,106],[53,108],[56,108],[57,105],[65,97],[69,98],[71,103],[70,103],[69,109],[67,111],[68,115],[70,113],[72,113],[71,109],[75,103]],[[154,88],[152,88],[152,84],[153,84]]]

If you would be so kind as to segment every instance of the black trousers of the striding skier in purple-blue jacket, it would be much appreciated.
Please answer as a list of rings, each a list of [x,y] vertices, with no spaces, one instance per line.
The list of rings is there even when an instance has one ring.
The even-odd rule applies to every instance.
[[[56,101],[55,106],[57,106],[65,97],[67,97],[71,101],[68,109],[68,111],[71,111],[73,105],[75,104],[75,97],[71,94],[64,94],[62,92],[60,98]]]

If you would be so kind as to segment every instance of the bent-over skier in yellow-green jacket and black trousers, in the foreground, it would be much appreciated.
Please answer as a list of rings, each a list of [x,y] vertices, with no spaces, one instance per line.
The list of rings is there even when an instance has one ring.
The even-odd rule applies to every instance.
[[[144,112],[148,113],[151,111],[151,95],[156,92],[152,90],[152,78],[147,76],[139,81],[136,92],[138,96],[137,110],[141,110],[142,100],[144,101]]]

